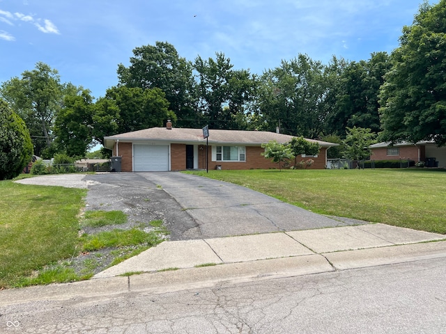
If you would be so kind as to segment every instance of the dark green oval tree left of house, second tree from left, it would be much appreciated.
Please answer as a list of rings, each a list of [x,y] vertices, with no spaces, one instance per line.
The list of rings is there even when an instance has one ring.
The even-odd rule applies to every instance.
[[[70,87],[57,113],[54,134],[59,148],[70,157],[84,157],[93,141],[93,97],[90,90]]]

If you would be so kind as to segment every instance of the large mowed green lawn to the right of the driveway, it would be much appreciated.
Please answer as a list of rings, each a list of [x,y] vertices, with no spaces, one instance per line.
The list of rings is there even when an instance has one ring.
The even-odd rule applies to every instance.
[[[318,214],[446,234],[444,170],[209,170],[208,173],[190,173],[247,186]]]

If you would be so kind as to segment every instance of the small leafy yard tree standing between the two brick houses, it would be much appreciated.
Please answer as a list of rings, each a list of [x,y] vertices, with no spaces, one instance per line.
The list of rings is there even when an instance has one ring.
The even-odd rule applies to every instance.
[[[371,129],[362,127],[347,127],[347,136],[344,139],[344,157],[357,161],[357,166],[362,159],[370,157],[371,149],[369,146],[374,144],[376,134]]]

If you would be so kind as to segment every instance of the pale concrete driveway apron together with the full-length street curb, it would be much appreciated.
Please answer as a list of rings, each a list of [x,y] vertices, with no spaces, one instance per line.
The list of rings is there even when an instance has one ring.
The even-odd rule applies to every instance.
[[[436,257],[446,257],[445,235],[380,223],[164,241],[91,280],[1,291],[0,305],[129,292],[159,294]]]

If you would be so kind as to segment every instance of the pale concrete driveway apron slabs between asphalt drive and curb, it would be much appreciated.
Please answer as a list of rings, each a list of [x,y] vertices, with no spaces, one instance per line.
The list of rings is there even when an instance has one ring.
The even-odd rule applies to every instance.
[[[323,257],[332,269],[351,269],[396,263],[426,254],[446,256],[446,241],[426,243],[445,239],[443,234],[378,223],[216,239],[164,241],[98,273],[94,278],[304,256],[308,259]],[[396,245],[406,246],[394,247]]]

